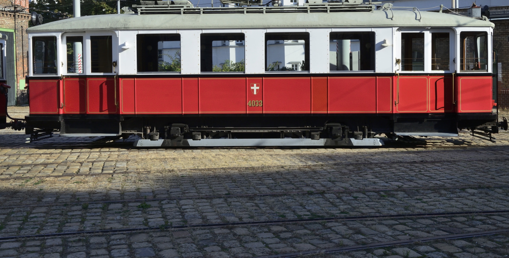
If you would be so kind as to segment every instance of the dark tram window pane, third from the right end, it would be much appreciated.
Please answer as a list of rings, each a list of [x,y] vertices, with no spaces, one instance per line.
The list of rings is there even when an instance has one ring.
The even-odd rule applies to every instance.
[[[424,71],[424,33],[401,34],[401,71]]]

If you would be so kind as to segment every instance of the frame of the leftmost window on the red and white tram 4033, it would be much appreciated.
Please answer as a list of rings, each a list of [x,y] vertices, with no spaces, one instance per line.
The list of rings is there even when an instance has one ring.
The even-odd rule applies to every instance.
[[[57,38],[56,36],[37,36],[37,37],[32,37],[32,73],[33,74],[51,74],[51,75],[55,75],[55,74],[58,74],[58,70],[59,70],[59,66],[58,66],[58,43],[57,43]],[[42,47],[45,48],[44,52],[43,52],[43,59],[42,61],[36,61],[36,58],[38,57],[41,57],[40,54],[38,54],[38,52],[36,51],[37,50],[37,45],[38,45],[38,42],[43,42],[45,43]],[[47,47],[46,45],[49,45],[48,43],[51,42],[52,44],[52,47]],[[39,44],[40,45],[40,44]],[[52,52],[52,53],[51,53]],[[40,51],[39,51],[40,53]],[[53,56],[53,59],[50,60],[50,61],[44,61],[47,59],[48,56]],[[42,67],[38,67],[36,65],[37,62],[47,62],[48,64],[50,63],[53,63],[54,67],[53,66],[43,66]],[[37,69],[41,69],[42,71],[38,72]]]

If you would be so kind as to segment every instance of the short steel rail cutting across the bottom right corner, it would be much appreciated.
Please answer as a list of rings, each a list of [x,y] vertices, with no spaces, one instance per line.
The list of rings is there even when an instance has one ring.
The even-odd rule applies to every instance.
[[[495,235],[495,234],[505,233],[505,232],[509,232],[509,229],[491,230],[491,231],[482,231],[482,232],[464,233],[464,234],[455,234],[455,235],[445,235],[445,236],[438,236],[438,237],[414,238],[414,239],[408,239],[408,240],[381,242],[381,243],[373,243],[373,244],[365,244],[365,245],[353,245],[353,246],[347,246],[347,247],[333,247],[333,248],[311,250],[311,251],[264,255],[264,256],[257,256],[254,258],[286,258],[286,257],[295,257],[295,256],[305,255],[305,254],[353,251],[353,250],[384,247],[384,246],[391,246],[391,245],[410,244],[410,243],[414,243],[414,242],[429,242],[429,241],[435,241],[435,240],[452,240],[452,239],[469,238],[469,237],[489,236],[489,235]]]

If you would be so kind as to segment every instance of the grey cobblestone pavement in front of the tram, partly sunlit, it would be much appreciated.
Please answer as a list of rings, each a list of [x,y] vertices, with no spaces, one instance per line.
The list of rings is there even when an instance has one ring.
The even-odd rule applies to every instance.
[[[26,144],[23,132],[0,130],[0,257],[331,248],[345,250],[303,256],[504,257],[509,133],[495,137],[375,149],[146,150],[131,139],[94,149],[94,138],[58,134]],[[51,235],[60,233],[69,235]]]

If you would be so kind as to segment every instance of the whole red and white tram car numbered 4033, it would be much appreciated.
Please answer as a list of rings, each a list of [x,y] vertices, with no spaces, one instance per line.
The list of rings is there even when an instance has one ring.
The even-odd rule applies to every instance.
[[[136,8],[27,29],[27,134],[136,134],[137,146],[373,146],[380,133],[497,128],[494,24],[485,17],[347,3]],[[216,41],[243,42],[241,69],[215,72]],[[180,58],[162,65],[165,42]],[[304,58],[277,69],[268,48],[286,42]]]

